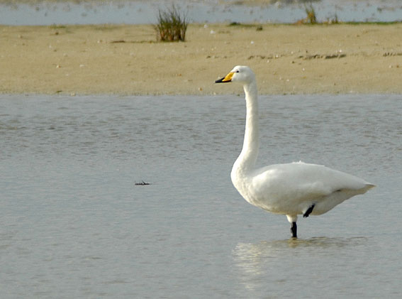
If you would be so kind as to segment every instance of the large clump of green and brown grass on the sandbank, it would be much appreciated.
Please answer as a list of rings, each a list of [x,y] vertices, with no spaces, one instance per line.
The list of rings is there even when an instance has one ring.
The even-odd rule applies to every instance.
[[[157,24],[154,25],[157,40],[184,41],[188,24],[186,14],[180,13],[174,5],[166,11],[159,10]]]

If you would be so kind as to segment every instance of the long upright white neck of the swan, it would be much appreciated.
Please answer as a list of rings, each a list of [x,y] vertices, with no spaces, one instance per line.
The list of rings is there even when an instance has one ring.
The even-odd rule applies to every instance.
[[[257,102],[257,83],[253,80],[244,85],[246,100],[246,123],[245,139],[240,156],[233,165],[233,170],[241,170],[246,173],[255,168],[257,161],[259,138],[258,138],[258,102]]]

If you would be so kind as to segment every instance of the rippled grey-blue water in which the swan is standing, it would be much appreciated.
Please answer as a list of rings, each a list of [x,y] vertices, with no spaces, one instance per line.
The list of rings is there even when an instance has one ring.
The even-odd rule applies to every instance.
[[[260,165],[377,185],[296,241],[230,183],[244,106],[0,95],[1,298],[401,298],[401,95],[260,98]]]

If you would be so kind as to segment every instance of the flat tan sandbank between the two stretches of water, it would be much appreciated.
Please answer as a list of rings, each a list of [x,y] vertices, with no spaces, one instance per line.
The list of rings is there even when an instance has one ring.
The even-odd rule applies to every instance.
[[[257,30],[261,26],[262,30]],[[235,65],[262,94],[402,92],[402,23],[191,24],[157,43],[150,25],[0,26],[0,92],[228,94]]]

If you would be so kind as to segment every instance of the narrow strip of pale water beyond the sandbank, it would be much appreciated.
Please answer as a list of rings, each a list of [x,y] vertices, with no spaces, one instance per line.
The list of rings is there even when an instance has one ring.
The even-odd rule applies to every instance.
[[[303,1],[245,5],[219,0],[117,0],[117,1],[6,1],[0,4],[0,23],[5,25],[156,23],[158,9],[172,3],[196,23],[294,23],[306,17]],[[29,2],[28,2],[29,3]],[[290,3],[290,4],[289,4]],[[318,21],[402,21],[400,0],[313,1]]]

